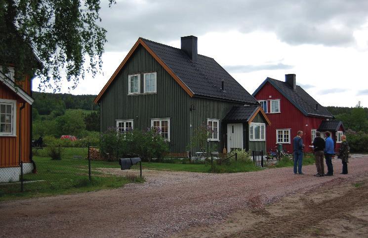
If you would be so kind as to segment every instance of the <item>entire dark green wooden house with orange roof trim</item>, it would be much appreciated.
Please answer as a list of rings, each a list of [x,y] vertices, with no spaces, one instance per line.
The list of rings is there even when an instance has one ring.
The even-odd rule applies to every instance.
[[[139,38],[94,102],[101,133],[160,128],[174,154],[186,153],[201,125],[220,152],[266,150],[270,121],[260,104],[214,59],[197,53],[195,36],[181,37],[181,49]]]

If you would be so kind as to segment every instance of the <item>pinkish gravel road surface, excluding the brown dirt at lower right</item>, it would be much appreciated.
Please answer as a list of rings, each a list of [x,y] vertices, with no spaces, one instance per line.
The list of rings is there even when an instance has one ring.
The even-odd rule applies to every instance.
[[[76,195],[0,203],[0,237],[165,237],[294,194],[368,177],[368,157],[351,159],[348,175],[314,177],[315,166],[205,174],[148,171],[144,184]]]

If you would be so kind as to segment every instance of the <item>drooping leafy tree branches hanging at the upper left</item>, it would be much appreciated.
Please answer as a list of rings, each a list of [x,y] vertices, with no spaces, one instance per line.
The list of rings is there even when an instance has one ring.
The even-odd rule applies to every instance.
[[[75,88],[85,69],[94,76],[102,65],[106,30],[97,25],[99,10],[99,0],[0,0],[0,65],[12,63],[16,80],[37,73],[39,88],[54,92],[65,69]]]

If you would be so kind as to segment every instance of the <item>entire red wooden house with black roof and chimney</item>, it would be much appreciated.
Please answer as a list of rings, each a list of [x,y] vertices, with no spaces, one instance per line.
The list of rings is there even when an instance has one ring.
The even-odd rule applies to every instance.
[[[285,82],[266,78],[254,91],[253,97],[261,103],[271,121],[267,128],[267,151],[282,144],[286,151],[292,151],[292,138],[297,131],[303,131],[305,151],[310,151],[316,132],[330,131],[335,141],[335,151],[339,149],[344,127],[327,109],[314,100],[300,86],[296,85],[295,74],[286,74]]]

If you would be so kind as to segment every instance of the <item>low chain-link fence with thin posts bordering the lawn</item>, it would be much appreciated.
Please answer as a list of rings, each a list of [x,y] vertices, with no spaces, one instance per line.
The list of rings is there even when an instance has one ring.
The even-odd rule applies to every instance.
[[[60,155],[60,156],[58,156]],[[101,158],[96,147],[37,147],[32,163],[1,168],[0,197],[22,193],[60,194],[60,191],[117,187],[141,177],[140,165],[121,170],[118,160]]]

